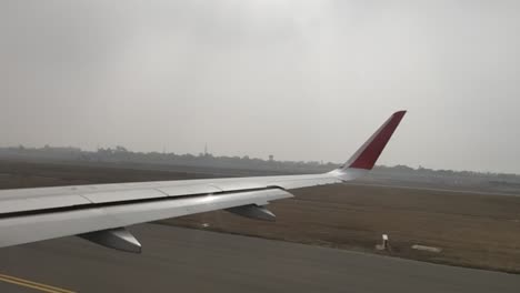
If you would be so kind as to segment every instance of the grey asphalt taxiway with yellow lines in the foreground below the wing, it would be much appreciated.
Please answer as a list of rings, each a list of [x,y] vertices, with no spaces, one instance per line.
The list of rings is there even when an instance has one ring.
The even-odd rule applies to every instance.
[[[0,250],[0,292],[519,292],[520,276],[143,224],[142,254],[78,238]],[[16,277],[16,279],[13,279]]]

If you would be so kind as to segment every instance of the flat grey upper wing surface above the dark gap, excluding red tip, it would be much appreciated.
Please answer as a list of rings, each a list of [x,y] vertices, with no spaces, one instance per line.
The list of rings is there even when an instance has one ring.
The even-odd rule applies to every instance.
[[[77,205],[92,205],[91,208],[94,208],[98,204],[108,203],[118,204],[132,201],[257,191],[272,188],[290,190],[337,182],[340,182],[340,180],[330,174],[318,174],[1,190],[0,218],[9,216],[12,213],[66,209]],[[26,191],[30,191],[30,193],[27,194]]]

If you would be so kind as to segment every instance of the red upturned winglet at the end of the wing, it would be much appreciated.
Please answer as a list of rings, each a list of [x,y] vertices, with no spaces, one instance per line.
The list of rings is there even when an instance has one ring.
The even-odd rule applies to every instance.
[[[407,111],[399,111],[393,113],[370,139],[364,142],[361,148],[344,163],[340,170],[346,169],[363,169],[372,170],[376,161],[387,145],[388,141],[396,131],[399,122],[404,117]]]

